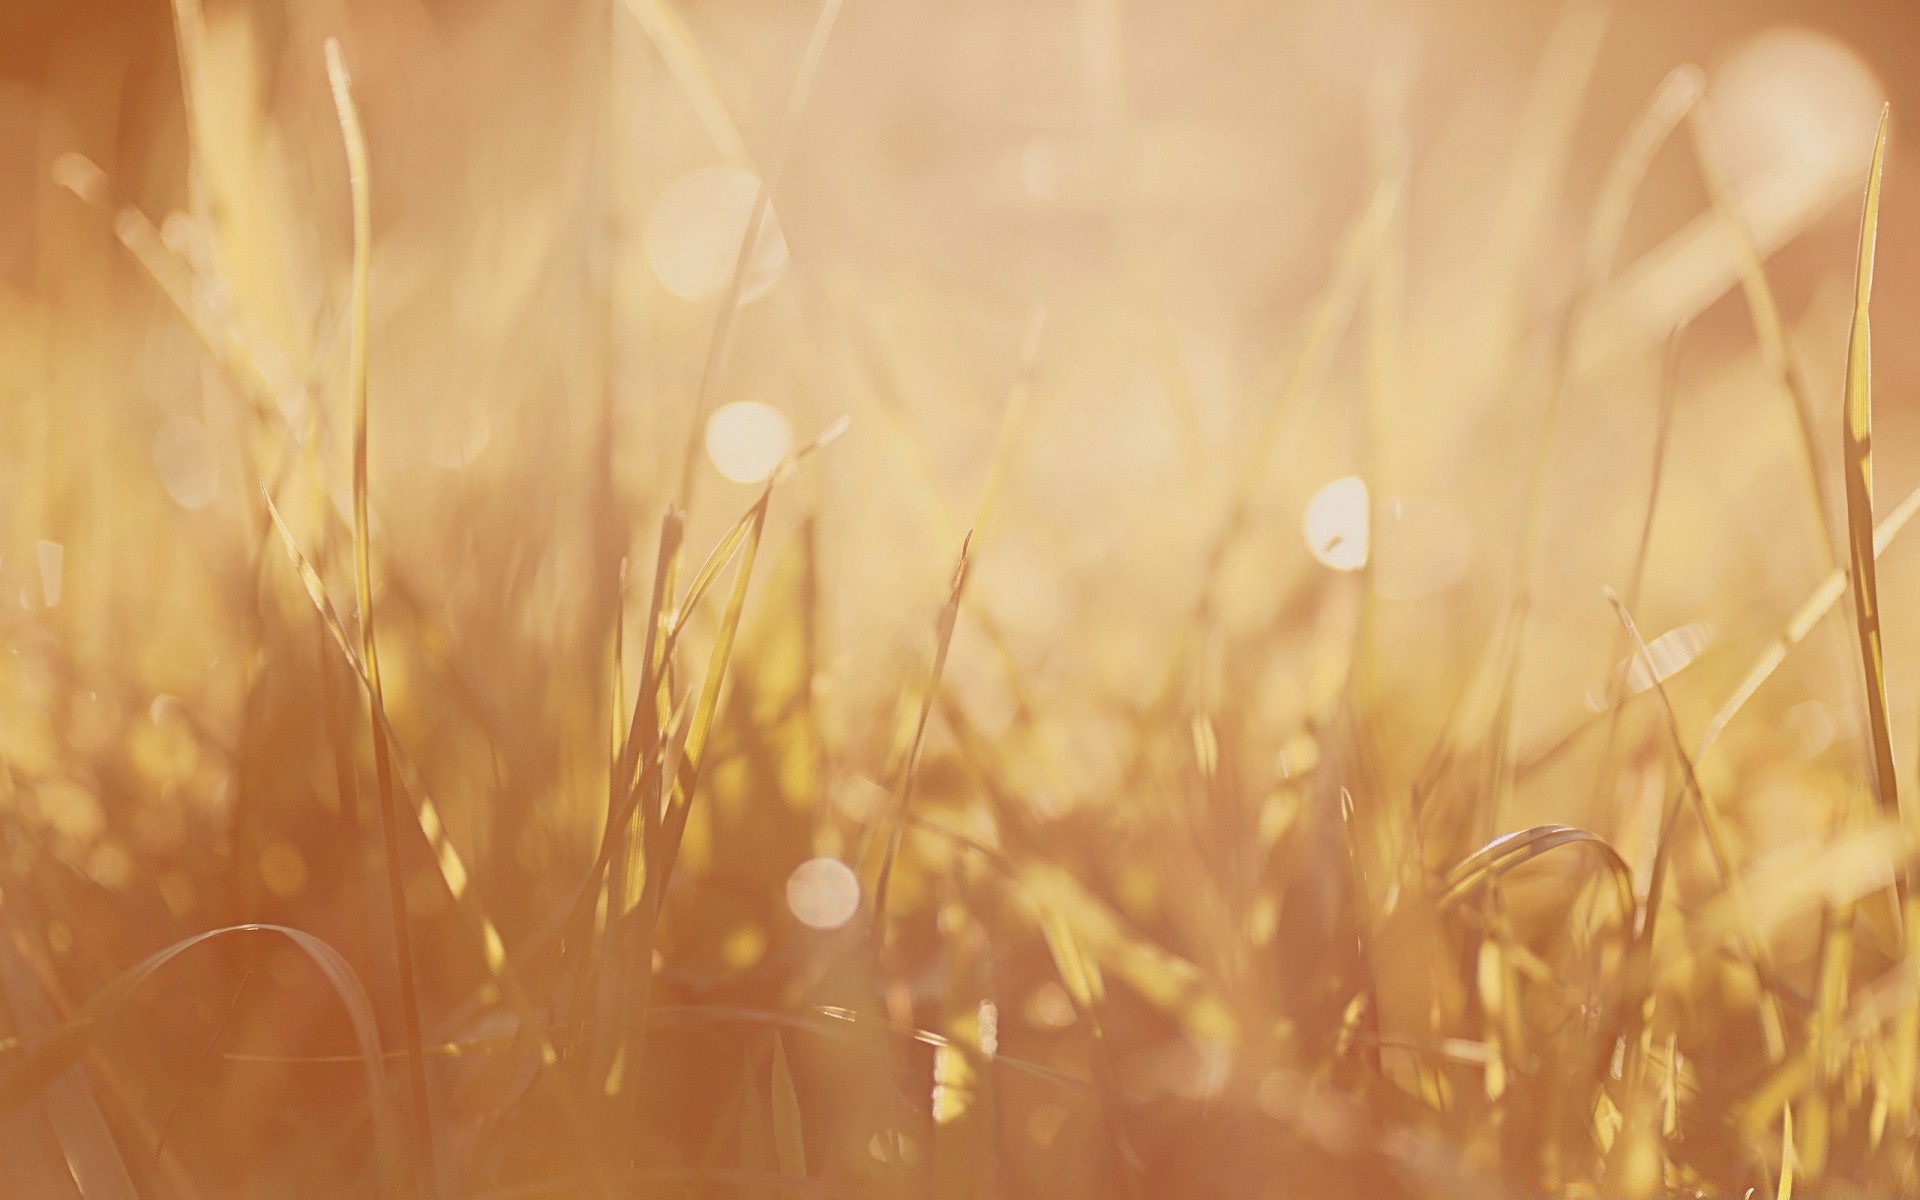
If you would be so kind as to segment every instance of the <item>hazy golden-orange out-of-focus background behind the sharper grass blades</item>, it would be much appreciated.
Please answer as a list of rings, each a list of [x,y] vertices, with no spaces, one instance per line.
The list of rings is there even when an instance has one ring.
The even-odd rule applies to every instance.
[[[851,417],[772,501],[655,1002],[858,1008],[831,948],[852,927],[808,929],[785,887],[803,860],[854,858],[891,804],[972,528],[916,803],[1000,849],[1018,824],[1102,912],[1196,964],[1252,1039],[1148,1016],[1169,1006],[1131,979],[1146,998],[1106,1041],[1114,1087],[1154,1114],[1129,1152],[1148,1194],[1263,1194],[1248,1183],[1263,1135],[1154,1106],[1198,1114],[1225,1094],[1273,1116],[1290,1052],[1246,1031],[1332,1037],[1346,1002],[1302,979],[1338,977],[1315,964],[1346,939],[1286,933],[1294,918],[1261,908],[1296,887],[1267,851],[1304,839],[1294,866],[1325,851],[1273,797],[1336,810],[1352,785],[1348,804],[1407,804],[1528,588],[1505,749],[1521,768],[1488,833],[1594,828],[1644,879],[1665,733],[1645,712],[1624,743],[1584,733],[1626,653],[1601,589],[1667,636],[1693,739],[1834,545],[1843,561],[1841,372],[1887,102],[1882,513],[1920,484],[1920,346],[1901,334],[1920,315],[1901,136],[1920,111],[1920,15],[1905,4],[851,0],[808,65],[818,21],[789,0],[8,2],[0,966],[15,1033],[179,937],[271,920],[342,948],[394,1044],[372,774],[357,749],[361,803],[342,803],[332,751],[365,712],[261,505],[267,488],[351,622],[348,541],[326,534],[328,505],[348,511],[351,428],[326,38],[371,156],[386,703],[509,948],[540,943],[597,847],[612,630],[643,637],[666,505],[691,495],[699,563],[789,445]],[[1703,73],[1697,125],[1653,154],[1582,294],[1609,163],[1651,96],[1693,86],[1670,77],[1686,63]],[[1766,255],[1826,530],[1695,134]],[[762,180],[772,223],[733,309]],[[1342,294],[1356,238],[1369,265]],[[1912,787],[1920,557],[1893,549],[1880,588]],[[710,637],[714,614],[691,628]],[[1363,710],[1346,707],[1367,730],[1352,735],[1365,780],[1302,783],[1348,737],[1329,697],[1356,637],[1371,647]],[[1864,787],[1857,674],[1839,620],[1822,626],[1701,762],[1705,791],[1738,797],[1743,862],[1818,837]],[[970,737],[1002,747],[991,785]],[[1636,747],[1626,780],[1617,745]],[[1436,837],[1430,870],[1476,845],[1471,824]],[[424,845],[409,854],[428,1041],[499,1035],[459,906]],[[950,839],[908,839],[895,908],[914,966],[887,1012],[945,1020],[941,972],[972,945],[952,914],[972,912],[968,977],[998,1004],[1000,1044],[1069,1069],[1058,948],[1002,912],[1018,902],[981,899],[966,862]],[[1811,973],[1812,918],[1793,929],[1782,970]],[[365,1114],[326,1116],[361,1081],[294,1062],[351,1050],[319,975],[257,945],[196,962],[142,991],[88,1068],[115,1096],[106,1127],[140,1146],[131,1171],[154,1194],[367,1185]],[[1718,1004],[1676,1037],[1720,1044]],[[766,1071],[762,1043],[749,1071]],[[639,1156],[707,1162],[735,1137],[716,1131],[747,1039],[695,1023],[674,1044]],[[847,1081],[831,1039],[803,1046],[803,1098],[831,1114],[808,1129],[816,1171],[908,1169],[906,1135],[874,1117],[885,1096]],[[486,1164],[472,1194],[549,1194],[472,1181],[564,1160],[561,1117],[503,1102],[461,1058],[434,1071],[444,1152]],[[1129,1156],[1100,1150],[1102,1117],[1006,1087],[979,1194],[1112,1194],[1102,1171]],[[482,1144],[488,1121],[520,1135]],[[1513,1167],[1473,1121],[1434,1137]],[[8,1137],[36,1144],[25,1125]]]

